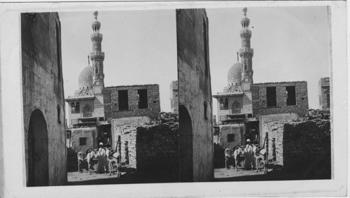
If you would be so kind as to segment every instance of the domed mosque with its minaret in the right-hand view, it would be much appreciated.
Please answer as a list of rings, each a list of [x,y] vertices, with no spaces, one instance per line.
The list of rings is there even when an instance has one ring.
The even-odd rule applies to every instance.
[[[218,101],[218,121],[233,118],[251,118],[253,109],[251,102],[251,85],[253,84],[254,54],[251,48],[250,20],[246,17],[247,9],[244,8],[244,17],[241,20],[241,48],[237,52],[237,63],[233,64],[228,71],[228,86],[223,92],[214,94]],[[239,57],[241,62],[239,62]]]

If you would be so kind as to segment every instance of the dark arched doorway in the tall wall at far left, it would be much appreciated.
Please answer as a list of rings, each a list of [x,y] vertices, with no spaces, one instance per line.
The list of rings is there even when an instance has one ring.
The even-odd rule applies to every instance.
[[[48,127],[43,113],[34,110],[28,129],[28,186],[48,185]]]

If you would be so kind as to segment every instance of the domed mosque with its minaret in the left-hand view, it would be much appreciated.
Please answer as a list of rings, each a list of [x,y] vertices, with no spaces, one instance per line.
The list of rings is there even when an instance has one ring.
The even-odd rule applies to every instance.
[[[92,22],[92,52],[89,56],[89,65],[80,72],[78,78],[79,90],[72,97],[66,99],[69,104],[69,126],[79,122],[97,122],[104,120],[104,52],[102,52],[102,34],[99,33],[101,23],[94,13]],[[92,65],[90,66],[90,59]]]

